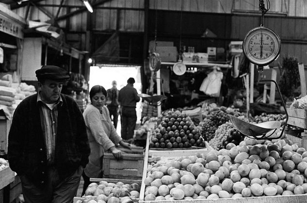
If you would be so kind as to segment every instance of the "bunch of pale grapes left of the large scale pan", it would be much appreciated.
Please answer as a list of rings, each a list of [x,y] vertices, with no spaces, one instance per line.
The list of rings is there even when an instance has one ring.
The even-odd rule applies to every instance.
[[[209,141],[209,145],[213,147],[213,149],[220,150],[225,148],[223,143],[227,140],[227,137],[230,135],[230,132],[233,131],[234,126],[231,122],[227,121],[226,123],[220,125],[216,131],[213,139]]]

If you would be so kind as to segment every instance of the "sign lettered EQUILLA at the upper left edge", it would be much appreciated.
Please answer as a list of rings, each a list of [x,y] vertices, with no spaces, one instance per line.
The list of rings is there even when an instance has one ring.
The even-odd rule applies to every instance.
[[[16,21],[0,14],[0,31],[13,35],[18,38],[23,38],[22,26]]]

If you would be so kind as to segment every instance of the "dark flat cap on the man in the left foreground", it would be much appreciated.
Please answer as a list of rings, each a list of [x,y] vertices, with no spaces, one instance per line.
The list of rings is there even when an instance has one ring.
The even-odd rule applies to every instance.
[[[37,79],[49,79],[59,82],[65,82],[70,79],[67,71],[58,66],[42,66],[41,69],[35,71]]]

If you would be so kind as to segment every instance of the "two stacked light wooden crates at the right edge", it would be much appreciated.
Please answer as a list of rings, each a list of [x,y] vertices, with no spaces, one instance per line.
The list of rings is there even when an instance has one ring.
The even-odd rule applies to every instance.
[[[307,149],[307,107],[303,109],[299,108],[290,108],[292,102],[287,102],[287,112],[289,119],[287,124],[296,126],[304,129],[304,132],[301,133],[302,138],[298,138],[292,135],[287,134],[286,137],[291,141],[297,143],[299,146]]]

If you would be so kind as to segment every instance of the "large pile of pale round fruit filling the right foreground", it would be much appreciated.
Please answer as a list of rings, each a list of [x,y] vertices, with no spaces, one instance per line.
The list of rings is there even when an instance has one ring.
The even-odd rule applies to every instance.
[[[145,201],[307,193],[307,151],[286,139],[256,141],[148,167]]]

